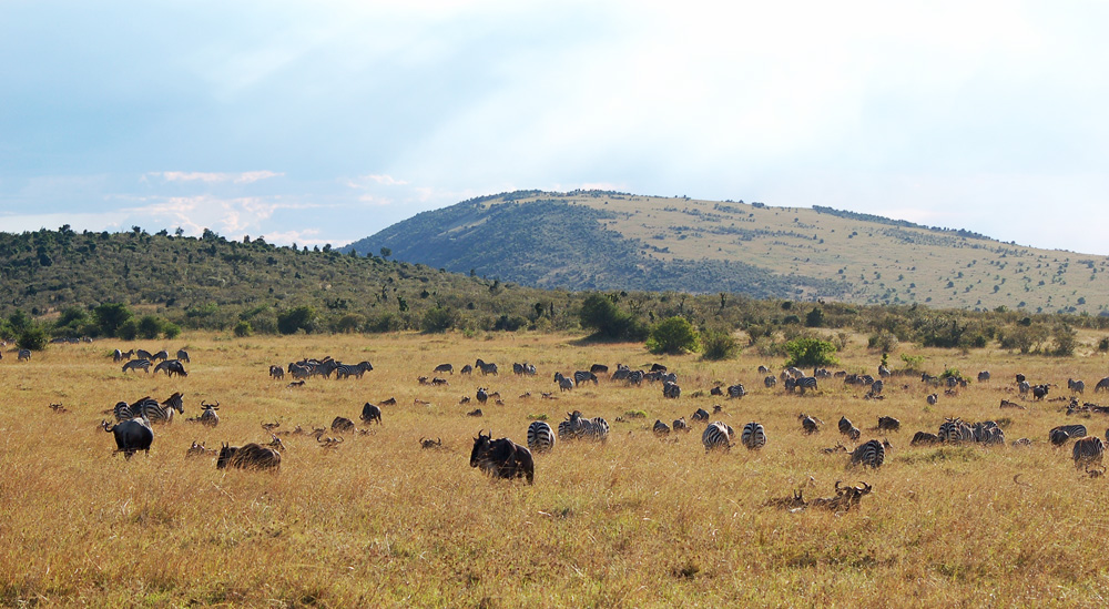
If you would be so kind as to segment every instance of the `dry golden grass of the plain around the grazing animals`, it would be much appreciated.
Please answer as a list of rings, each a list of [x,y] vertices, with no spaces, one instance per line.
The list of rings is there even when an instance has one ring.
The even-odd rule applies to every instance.
[[[1069,448],[1052,449],[1047,430],[1083,423],[1102,435],[1100,415],[1075,419],[1061,403],[1017,399],[1011,378],[1062,386],[1068,377],[1093,384],[1102,356],[1047,359],[979,353],[926,354],[990,384],[974,384],[928,407],[932,388],[897,378],[887,398],[826,382],[815,396],[763,388],[759,364],[744,355],[704,363],[694,356],[660,359],[683,387],[664,400],[657,385],[627,388],[602,379],[556,400],[554,371],[617,362],[655,361],[640,345],[582,345],[573,337],[459,335],[428,337],[305,336],[226,339],[186,335],[190,376],[122,374],[106,355],[115,345],[62,345],[30,363],[0,362],[0,602],[44,606],[1013,606],[1103,605],[1109,590],[1105,505],[1109,479],[1076,471]],[[369,359],[360,380],[309,379],[301,389],[267,376],[269,364],[302,356]],[[447,387],[419,386],[417,376],[449,362],[456,369],[481,357],[498,377],[449,376]],[[535,378],[511,374],[530,362]],[[872,372],[862,349],[843,367]],[[710,398],[714,382],[741,380],[742,400]],[[459,405],[477,386],[499,390],[486,416]],[[905,387],[907,386],[907,388]],[[704,397],[691,397],[696,389]],[[202,399],[221,403],[215,429],[176,420],[155,428],[149,455],[113,455],[99,428],[104,409],[144,395],[185,394],[185,416]],[[531,392],[530,398],[519,397]],[[942,393],[942,392],[940,392]],[[347,435],[326,451],[308,436],[286,436],[279,474],[217,470],[214,458],[186,458],[193,440],[268,439],[263,422],[281,429],[326,426],[338,415],[357,420],[365,402],[396,397],[385,424]],[[1100,397],[1100,396],[1099,396]],[[414,405],[416,398],[430,405]],[[1091,394],[1087,399],[1097,399]],[[54,413],[51,403],[69,410]],[[739,429],[757,419],[770,441],[705,455],[702,426],[660,440],[668,424],[698,407],[721,404],[718,418]],[[603,416],[607,444],[561,443],[537,457],[536,484],[491,480],[468,465],[479,428],[526,440],[529,416],[552,425],[566,412]],[[645,418],[617,422],[630,410]],[[825,428],[802,434],[797,414]],[[877,471],[851,469],[845,456],[820,448],[842,441],[835,424],[846,414],[863,439],[888,437],[895,449]],[[903,430],[869,429],[879,415]],[[1006,437],[1029,437],[1032,448],[909,447],[916,430],[935,433],[945,416],[1008,419]],[[334,435],[334,434],[328,434]],[[421,450],[421,436],[441,437],[444,450]],[[1014,484],[1014,476],[1029,486]],[[812,478],[806,497],[831,495],[843,479],[866,480],[874,493],[846,514],[790,514],[763,507]]]

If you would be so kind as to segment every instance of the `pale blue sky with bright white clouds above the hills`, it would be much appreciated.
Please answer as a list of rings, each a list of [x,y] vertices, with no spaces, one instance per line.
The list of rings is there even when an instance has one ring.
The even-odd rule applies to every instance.
[[[0,0],[0,231],[345,245],[519,189],[1109,255],[1109,3]]]

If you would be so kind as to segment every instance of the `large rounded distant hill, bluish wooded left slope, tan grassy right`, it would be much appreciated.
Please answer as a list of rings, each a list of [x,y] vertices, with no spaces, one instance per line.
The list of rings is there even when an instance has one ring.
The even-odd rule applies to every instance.
[[[832,207],[519,191],[425,212],[346,246],[566,290],[1109,314],[1109,258]]]

